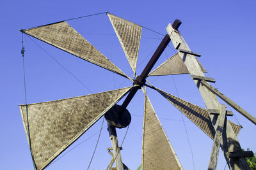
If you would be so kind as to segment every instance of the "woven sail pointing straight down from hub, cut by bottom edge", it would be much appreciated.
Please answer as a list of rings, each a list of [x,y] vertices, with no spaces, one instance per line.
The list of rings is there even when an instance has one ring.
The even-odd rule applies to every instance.
[[[182,169],[147,94],[144,107],[142,169]]]

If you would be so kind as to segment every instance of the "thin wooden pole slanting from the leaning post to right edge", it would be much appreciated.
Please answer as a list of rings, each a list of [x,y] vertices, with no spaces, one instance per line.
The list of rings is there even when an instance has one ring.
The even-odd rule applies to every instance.
[[[216,94],[218,97],[220,97],[221,99],[223,99],[223,101],[225,101],[227,104],[229,104],[232,108],[234,108],[236,111],[238,111],[239,113],[241,113],[244,117],[248,118],[248,120],[250,120],[253,124],[256,125],[256,118],[253,117],[252,115],[250,115],[250,113],[248,113],[247,111],[243,110],[243,108],[241,108],[240,106],[238,106],[236,103],[234,103],[234,101],[230,100],[227,96],[225,96],[224,94],[222,94],[219,90],[215,89],[214,87],[212,87],[211,85],[209,85],[209,83],[207,83],[206,81],[202,80],[201,81],[202,85],[204,85],[207,89],[209,89],[212,93]]]

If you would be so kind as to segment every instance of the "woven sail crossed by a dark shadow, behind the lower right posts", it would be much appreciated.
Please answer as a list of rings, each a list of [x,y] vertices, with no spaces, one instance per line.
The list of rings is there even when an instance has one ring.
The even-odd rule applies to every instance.
[[[179,97],[168,94],[160,89],[156,89],[163,97],[165,97],[170,103],[173,104],[178,110],[181,111],[186,117],[188,117],[195,125],[197,125],[202,131],[205,132],[211,139],[214,139],[215,130],[211,123],[209,113],[204,108],[200,108],[195,104],[184,101]],[[230,121],[229,121],[230,122]],[[239,125],[230,122],[232,129],[236,136],[238,135],[241,127]]]

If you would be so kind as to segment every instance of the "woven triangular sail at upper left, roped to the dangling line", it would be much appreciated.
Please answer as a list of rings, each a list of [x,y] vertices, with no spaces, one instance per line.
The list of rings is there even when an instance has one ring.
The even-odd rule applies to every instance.
[[[55,24],[44,25],[24,32],[30,36],[56,46],[65,52],[76,55],[77,57],[92,62],[97,66],[104,67],[109,71],[127,77],[118,67],[115,66],[107,57],[99,52],[92,44],[74,30],[67,22],[57,22]]]

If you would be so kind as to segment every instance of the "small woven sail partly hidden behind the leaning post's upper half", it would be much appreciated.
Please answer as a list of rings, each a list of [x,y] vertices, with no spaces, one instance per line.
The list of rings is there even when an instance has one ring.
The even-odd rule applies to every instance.
[[[206,73],[206,70],[197,60],[202,71]],[[165,76],[173,74],[189,74],[187,67],[179,56],[179,53],[175,53],[172,57],[163,62],[160,66],[154,69],[148,76]]]

